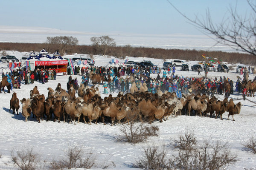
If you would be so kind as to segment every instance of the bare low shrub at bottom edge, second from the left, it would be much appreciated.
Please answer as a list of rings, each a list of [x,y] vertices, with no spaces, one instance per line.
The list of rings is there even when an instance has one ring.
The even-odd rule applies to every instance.
[[[53,160],[50,163],[50,169],[62,170],[64,168],[86,168],[90,169],[95,164],[95,157],[92,153],[84,154],[84,151],[79,147],[68,147],[65,159]]]

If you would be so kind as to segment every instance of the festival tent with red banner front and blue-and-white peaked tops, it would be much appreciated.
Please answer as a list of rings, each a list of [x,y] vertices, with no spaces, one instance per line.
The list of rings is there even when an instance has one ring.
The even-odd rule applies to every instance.
[[[32,51],[25,64],[26,68],[29,67],[32,71],[37,68],[55,68],[57,72],[67,72],[67,59],[62,58],[58,51],[53,54],[53,57],[50,57],[45,49],[41,50],[39,55]]]

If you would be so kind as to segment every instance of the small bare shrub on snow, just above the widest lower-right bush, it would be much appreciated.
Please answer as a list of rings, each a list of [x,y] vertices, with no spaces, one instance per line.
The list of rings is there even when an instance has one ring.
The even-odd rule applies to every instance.
[[[195,150],[197,141],[194,137],[194,133],[186,132],[184,136],[179,136],[178,140],[173,140],[173,146],[180,150]]]

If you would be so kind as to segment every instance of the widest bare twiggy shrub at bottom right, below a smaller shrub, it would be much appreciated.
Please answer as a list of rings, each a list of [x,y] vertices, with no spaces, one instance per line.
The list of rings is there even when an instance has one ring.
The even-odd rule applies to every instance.
[[[174,158],[172,167],[187,170],[219,170],[237,161],[227,143],[221,144],[220,141],[204,142],[196,150],[180,150]]]

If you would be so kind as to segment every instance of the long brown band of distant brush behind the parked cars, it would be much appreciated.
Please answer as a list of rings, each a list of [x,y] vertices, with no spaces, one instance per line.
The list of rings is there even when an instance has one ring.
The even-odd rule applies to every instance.
[[[132,47],[131,45],[115,46],[109,45],[108,48],[100,48],[100,45],[66,45],[65,51],[61,50],[58,43],[12,43],[0,42],[0,51],[15,50],[15,51],[41,51],[46,48],[49,53],[54,53],[56,50],[60,51],[63,55],[66,54],[90,54],[90,55],[109,55],[116,58],[125,59],[129,57],[149,57],[157,59],[183,59],[183,60],[197,60],[203,59],[202,55],[207,57],[214,57],[222,60],[223,62],[241,63],[256,65],[256,59],[251,54],[246,53],[229,53],[222,51],[200,51],[200,50],[181,50],[181,49],[163,49],[163,48],[146,48],[146,47]]]

